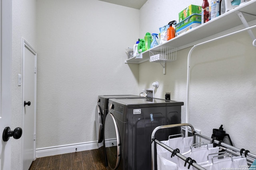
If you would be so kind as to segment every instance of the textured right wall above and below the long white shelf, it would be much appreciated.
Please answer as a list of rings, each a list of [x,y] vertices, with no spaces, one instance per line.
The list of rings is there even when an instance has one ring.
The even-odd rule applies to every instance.
[[[199,4],[198,4],[199,3]],[[140,9],[140,37],[146,32],[159,32],[158,28],[173,19],[189,4],[201,1],[148,0]],[[163,14],[162,8],[166,15]],[[169,9],[170,13],[166,12]],[[148,11],[154,11],[150,14]],[[161,18],[157,20],[157,18]],[[155,23],[150,20],[155,19]],[[221,26],[221,25],[220,25]],[[209,30],[210,31],[210,30]],[[256,35],[256,30],[253,30]],[[171,99],[184,102],[182,122],[186,121],[187,56],[191,48],[177,52],[177,60],[166,64],[166,75],[159,63],[139,64],[139,88],[152,88],[158,81],[155,97],[164,98],[171,92]],[[212,129],[223,124],[233,144],[256,153],[256,48],[248,33],[216,41],[194,50],[191,57],[190,115],[189,123],[211,137]],[[154,69],[152,69],[154,68]],[[146,76],[150,74],[151,76]]]

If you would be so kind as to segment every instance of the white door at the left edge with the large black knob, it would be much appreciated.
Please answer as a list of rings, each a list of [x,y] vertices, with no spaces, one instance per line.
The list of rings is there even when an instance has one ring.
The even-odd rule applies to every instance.
[[[0,170],[9,170],[11,143],[2,134],[11,125],[12,1],[0,0],[0,20]]]

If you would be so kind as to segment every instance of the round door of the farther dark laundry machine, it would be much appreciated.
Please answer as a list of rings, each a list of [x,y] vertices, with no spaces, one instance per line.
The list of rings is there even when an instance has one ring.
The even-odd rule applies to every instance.
[[[95,125],[96,125],[96,137],[98,137],[98,143],[103,141],[103,114],[100,110],[100,106],[96,106],[95,110]]]

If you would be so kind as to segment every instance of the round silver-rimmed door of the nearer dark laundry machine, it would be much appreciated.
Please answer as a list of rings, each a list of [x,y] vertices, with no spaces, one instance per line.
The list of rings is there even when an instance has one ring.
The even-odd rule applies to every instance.
[[[106,116],[104,135],[108,167],[115,170],[120,162],[121,143],[116,120],[112,113]]]

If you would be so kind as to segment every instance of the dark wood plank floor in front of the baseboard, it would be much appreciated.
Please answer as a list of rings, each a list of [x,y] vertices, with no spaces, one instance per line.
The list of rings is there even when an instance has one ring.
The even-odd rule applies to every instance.
[[[36,158],[29,170],[108,170],[98,149]]]

